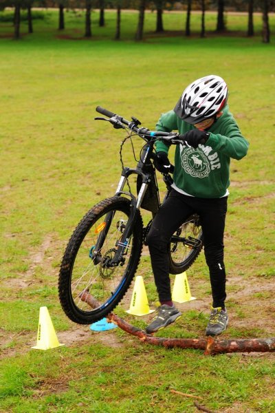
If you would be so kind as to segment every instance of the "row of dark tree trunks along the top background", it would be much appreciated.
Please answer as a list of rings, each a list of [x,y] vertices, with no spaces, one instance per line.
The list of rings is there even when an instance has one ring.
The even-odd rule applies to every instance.
[[[186,24],[184,34],[190,36],[190,18],[192,10],[201,10],[201,32],[200,36],[206,36],[205,16],[206,10],[217,11],[216,32],[225,32],[225,8],[227,10],[245,11],[248,13],[247,35],[254,36],[254,12],[260,11],[263,19],[263,42],[270,43],[269,13],[275,9],[275,0],[0,0],[0,11],[10,7],[14,9],[14,39],[20,39],[21,10],[27,10],[28,31],[33,32],[32,8],[58,8],[58,30],[65,29],[65,10],[85,10],[85,37],[92,36],[91,11],[95,8],[100,10],[99,25],[105,25],[104,10],[113,8],[116,10],[115,40],[120,39],[120,22],[122,10],[138,10],[137,29],[135,40],[141,41],[144,34],[144,18],[146,10],[155,10],[157,33],[164,32],[162,15],[164,10],[184,10],[186,12]]]

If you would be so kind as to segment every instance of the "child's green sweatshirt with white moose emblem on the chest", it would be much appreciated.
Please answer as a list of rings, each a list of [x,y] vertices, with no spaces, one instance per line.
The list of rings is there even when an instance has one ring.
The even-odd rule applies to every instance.
[[[159,118],[156,129],[166,132],[177,130],[179,134],[185,134],[195,127],[170,110]],[[207,131],[210,136],[206,145],[200,144],[197,149],[177,145],[173,187],[197,198],[221,198],[228,195],[230,158],[243,158],[248,152],[249,143],[241,135],[228,105]],[[168,153],[168,149],[164,142],[156,142],[157,152]]]

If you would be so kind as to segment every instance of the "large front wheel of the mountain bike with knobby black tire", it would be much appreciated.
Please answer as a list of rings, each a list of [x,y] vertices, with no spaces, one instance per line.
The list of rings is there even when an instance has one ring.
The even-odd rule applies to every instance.
[[[91,324],[106,317],[118,305],[135,275],[142,251],[140,211],[125,248],[113,264],[129,221],[130,203],[120,196],[102,200],[80,221],[69,240],[58,291],[65,314],[78,324]],[[85,293],[92,298],[93,308],[83,299]]]

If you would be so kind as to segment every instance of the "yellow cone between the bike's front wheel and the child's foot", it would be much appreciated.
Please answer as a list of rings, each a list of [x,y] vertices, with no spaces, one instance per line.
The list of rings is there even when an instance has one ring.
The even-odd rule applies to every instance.
[[[154,310],[150,310],[149,308],[143,278],[141,275],[137,275],[137,277],[135,277],[130,309],[127,310],[126,313],[132,315],[146,315],[153,312]]]

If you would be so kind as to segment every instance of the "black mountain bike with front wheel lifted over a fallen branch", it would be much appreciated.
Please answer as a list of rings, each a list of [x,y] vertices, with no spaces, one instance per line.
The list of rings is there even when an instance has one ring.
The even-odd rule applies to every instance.
[[[127,136],[120,146],[122,174],[115,195],[87,212],[76,226],[63,255],[58,281],[59,299],[67,317],[78,324],[91,324],[106,317],[128,290],[152,222],[150,220],[146,226],[143,225],[141,209],[150,211],[153,219],[161,204],[153,163],[157,156],[154,144],[157,140],[167,145],[183,143],[177,139],[177,133],[140,127],[140,121],[133,116],[129,121],[99,106],[96,111],[105,116],[96,120],[105,120],[115,129],[124,129]],[[145,143],[136,167],[131,169],[124,167],[122,147],[134,136],[142,138]],[[133,194],[129,184],[132,174],[137,177],[137,195]],[[163,174],[163,179],[167,188],[165,200],[173,179],[168,173]],[[128,191],[125,190],[126,184]],[[186,271],[202,247],[199,216],[192,214],[170,239],[170,273]],[[83,298],[87,292],[96,303],[94,308]]]

